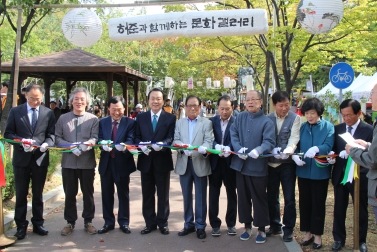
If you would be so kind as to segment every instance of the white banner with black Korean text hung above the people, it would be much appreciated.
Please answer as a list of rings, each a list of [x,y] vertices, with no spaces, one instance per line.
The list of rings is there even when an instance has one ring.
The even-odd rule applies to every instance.
[[[109,36],[114,41],[170,37],[242,36],[268,31],[263,9],[170,12],[111,18]]]

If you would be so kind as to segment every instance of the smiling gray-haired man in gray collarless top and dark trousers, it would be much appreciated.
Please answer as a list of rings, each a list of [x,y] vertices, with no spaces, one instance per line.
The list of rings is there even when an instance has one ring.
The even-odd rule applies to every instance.
[[[60,116],[55,126],[57,146],[73,147],[72,152],[63,153],[62,177],[65,193],[64,219],[67,225],[61,235],[69,235],[75,228],[77,220],[76,195],[80,181],[83,193],[85,231],[96,234],[97,230],[92,225],[94,218],[94,174],[96,160],[91,144],[98,140],[98,118],[86,112],[91,103],[89,92],[85,88],[76,88],[69,98],[72,111]]]

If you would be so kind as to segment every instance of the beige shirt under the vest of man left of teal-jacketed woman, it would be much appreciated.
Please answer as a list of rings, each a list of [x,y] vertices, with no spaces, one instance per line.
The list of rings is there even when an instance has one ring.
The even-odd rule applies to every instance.
[[[278,135],[280,133],[281,126],[283,125],[284,119],[288,116],[288,113],[284,117],[279,117],[275,112],[276,117],[276,126],[278,128]],[[291,129],[291,136],[289,137],[287,147],[285,150],[288,153],[293,153],[297,148],[297,143],[300,141],[300,126],[301,126],[301,119],[299,116],[296,117],[295,121],[293,122],[292,129]],[[276,146],[279,147],[279,146]],[[282,152],[284,150],[281,150]],[[268,163],[269,166],[278,167],[281,164],[278,163]]]

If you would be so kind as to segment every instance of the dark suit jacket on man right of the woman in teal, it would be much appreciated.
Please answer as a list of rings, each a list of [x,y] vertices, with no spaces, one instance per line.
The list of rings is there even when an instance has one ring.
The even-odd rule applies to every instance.
[[[339,154],[341,151],[344,150],[344,146],[346,146],[346,142],[339,136],[339,134],[346,133],[346,124],[341,123],[335,126],[335,143],[333,151],[336,154]],[[353,134],[355,139],[363,139],[366,142],[372,142],[373,138],[373,127],[369,124],[364,123],[360,120],[359,125],[356,128],[355,133]],[[343,159],[340,157],[336,157],[336,162],[333,166],[331,180],[332,184],[339,185],[340,182],[343,180],[344,170],[347,165],[347,159]],[[369,169],[361,166],[360,173],[367,173]]]

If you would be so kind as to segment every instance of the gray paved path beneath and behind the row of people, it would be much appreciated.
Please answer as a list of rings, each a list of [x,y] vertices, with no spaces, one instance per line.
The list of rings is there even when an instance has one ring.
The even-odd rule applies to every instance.
[[[96,176],[99,176],[98,174]],[[99,181],[95,184],[95,204],[96,216],[93,224],[99,229],[103,225],[101,207],[101,187]],[[62,203],[63,198],[59,199]],[[130,183],[131,234],[122,233],[118,226],[115,230],[107,234],[89,235],[84,232],[83,219],[80,217],[76,223],[74,232],[69,236],[61,236],[60,230],[65,225],[63,218],[63,206],[53,210],[45,218],[45,227],[49,230],[49,235],[39,236],[29,232],[24,240],[17,241],[13,246],[3,251],[254,251],[254,252],[285,252],[302,251],[294,240],[291,243],[284,243],[280,236],[268,237],[265,244],[255,243],[256,229],[248,241],[241,241],[239,235],[243,231],[242,224],[237,224],[237,235],[226,234],[226,225],[222,225],[222,235],[212,237],[211,227],[207,226],[207,238],[199,240],[196,234],[192,233],[185,237],[177,234],[183,228],[183,202],[178,175],[171,174],[170,190],[170,217],[169,235],[162,235],[158,230],[147,235],[141,235],[140,230],[145,226],[141,213],[141,188],[140,173],[137,171],[131,175]],[[220,218],[225,218],[226,194],[222,189],[220,199]],[[82,210],[82,198],[78,200],[79,216]],[[117,201],[115,203],[117,206]],[[117,212],[117,209],[115,210]],[[207,218],[208,223],[208,218]],[[7,235],[13,235],[15,228],[9,230]]]

